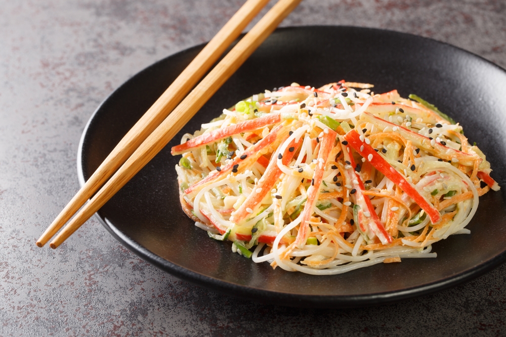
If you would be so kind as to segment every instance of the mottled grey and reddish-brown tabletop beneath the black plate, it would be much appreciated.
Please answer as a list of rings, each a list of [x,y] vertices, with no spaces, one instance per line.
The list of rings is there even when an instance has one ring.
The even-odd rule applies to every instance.
[[[98,104],[210,39],[241,3],[0,1],[0,335],[506,335],[506,265],[393,305],[303,310],[178,280],[94,218],[56,251],[35,246],[78,189],[77,144]],[[428,36],[506,67],[504,1],[305,0],[283,22],[314,24]]]

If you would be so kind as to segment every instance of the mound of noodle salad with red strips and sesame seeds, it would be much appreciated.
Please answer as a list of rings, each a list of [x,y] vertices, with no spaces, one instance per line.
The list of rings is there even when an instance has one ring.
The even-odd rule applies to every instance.
[[[498,184],[462,127],[416,95],[367,83],[255,94],[185,134],[181,205],[232,251],[328,275],[402,258],[466,225]]]

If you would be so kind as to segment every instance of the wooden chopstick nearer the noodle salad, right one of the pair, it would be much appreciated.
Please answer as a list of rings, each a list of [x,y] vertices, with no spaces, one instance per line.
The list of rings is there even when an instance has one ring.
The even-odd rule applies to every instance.
[[[60,246],[65,239],[97,212],[126,182],[132,179],[144,165],[163,149],[300,2],[301,0],[279,0],[220,63],[202,79],[183,102],[146,138],[91,201],[53,239],[50,247],[55,249]]]

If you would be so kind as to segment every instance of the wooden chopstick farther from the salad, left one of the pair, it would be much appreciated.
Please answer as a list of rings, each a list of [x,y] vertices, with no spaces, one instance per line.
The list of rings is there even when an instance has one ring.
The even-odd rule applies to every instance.
[[[209,41],[195,59],[163,92],[149,110],[126,133],[95,173],[79,189],[56,219],[39,237],[36,244],[43,247],[53,235],[128,159],[153,130],[171,113],[209,68],[218,61],[247,24],[269,3],[269,0],[247,0],[223,28]]]

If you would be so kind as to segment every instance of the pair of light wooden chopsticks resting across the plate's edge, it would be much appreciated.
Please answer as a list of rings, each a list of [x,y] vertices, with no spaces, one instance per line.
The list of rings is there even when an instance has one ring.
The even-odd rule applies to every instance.
[[[269,2],[269,0],[247,0],[121,139],[85,185],[79,189],[40,236],[36,242],[37,246],[43,247],[81,206],[82,209],[50,243],[51,248],[55,249],[60,246],[65,239],[97,212],[165,147],[301,1],[279,0],[176,107],[176,104],[184,98],[198,79],[218,60],[228,45],[239,36],[246,25]],[[112,175],[113,173],[114,175]],[[106,182],[109,177],[111,178]],[[102,184],[104,185],[102,186]],[[99,188],[100,190],[98,190]],[[97,190],[95,196],[85,205]]]

